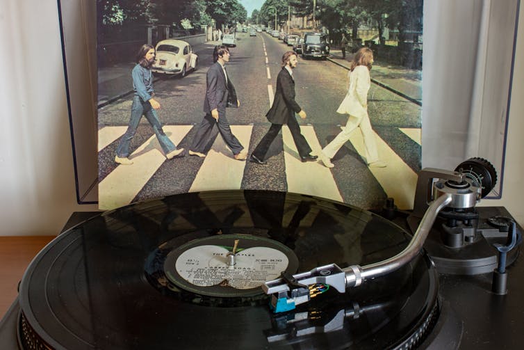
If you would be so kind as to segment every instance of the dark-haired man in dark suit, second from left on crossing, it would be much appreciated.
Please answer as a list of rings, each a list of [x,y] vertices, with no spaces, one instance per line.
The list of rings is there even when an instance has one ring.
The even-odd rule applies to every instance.
[[[215,47],[213,62],[215,63],[211,65],[206,75],[206,98],[204,100],[206,116],[197,127],[197,134],[193,138],[193,144],[188,153],[193,156],[206,157],[206,154],[203,153],[204,148],[206,148],[216,124],[224,142],[233,152],[234,158],[245,160],[247,152],[231,132],[231,127],[226,118],[227,106],[240,106],[233,83],[231,83],[225,69],[225,63],[229,62],[229,49],[225,46]]]

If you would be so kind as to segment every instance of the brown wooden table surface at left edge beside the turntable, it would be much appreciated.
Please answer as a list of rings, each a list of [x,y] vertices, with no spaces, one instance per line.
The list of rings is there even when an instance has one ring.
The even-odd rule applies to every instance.
[[[18,283],[33,257],[56,236],[0,237],[0,319],[18,295]]]

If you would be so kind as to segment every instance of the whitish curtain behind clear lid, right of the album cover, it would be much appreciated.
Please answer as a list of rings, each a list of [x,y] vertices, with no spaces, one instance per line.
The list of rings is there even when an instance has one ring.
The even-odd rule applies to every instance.
[[[488,159],[500,194],[519,0],[425,0],[422,164]]]

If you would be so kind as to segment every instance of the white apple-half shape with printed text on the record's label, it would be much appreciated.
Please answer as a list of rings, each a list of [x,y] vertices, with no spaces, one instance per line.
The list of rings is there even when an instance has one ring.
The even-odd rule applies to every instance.
[[[274,248],[240,250],[235,255],[234,266],[227,264],[228,253],[222,246],[193,247],[178,257],[175,268],[184,280],[199,287],[223,285],[251,289],[278,278],[288,267],[288,257]]]

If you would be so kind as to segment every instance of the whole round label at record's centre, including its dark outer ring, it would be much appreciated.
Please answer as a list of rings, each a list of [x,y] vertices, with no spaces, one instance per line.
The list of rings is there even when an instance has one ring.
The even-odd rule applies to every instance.
[[[261,285],[295,273],[298,260],[284,244],[248,234],[220,234],[170,251],[163,271],[171,283],[205,296],[263,294]]]

